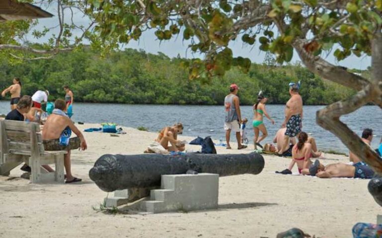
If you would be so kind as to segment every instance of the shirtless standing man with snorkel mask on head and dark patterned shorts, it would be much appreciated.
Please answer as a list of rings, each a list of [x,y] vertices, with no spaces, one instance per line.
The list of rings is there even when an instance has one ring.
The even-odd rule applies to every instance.
[[[286,127],[286,131],[284,134],[283,147],[279,151],[280,156],[288,149],[289,138],[300,133],[302,128],[302,98],[298,93],[299,88],[299,81],[297,84],[289,83],[290,99],[286,102],[285,120],[282,124],[282,127]]]

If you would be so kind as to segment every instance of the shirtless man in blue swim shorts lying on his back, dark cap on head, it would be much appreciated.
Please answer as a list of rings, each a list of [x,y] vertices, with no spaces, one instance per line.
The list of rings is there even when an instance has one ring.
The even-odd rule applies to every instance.
[[[302,170],[304,175],[317,176],[318,178],[360,178],[372,179],[374,171],[364,162],[358,162],[354,165],[342,163],[323,166],[318,160],[314,162],[309,169]]]

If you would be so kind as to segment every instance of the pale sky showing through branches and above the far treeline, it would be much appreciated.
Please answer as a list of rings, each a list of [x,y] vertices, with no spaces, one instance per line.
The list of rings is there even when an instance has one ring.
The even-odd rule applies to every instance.
[[[50,6],[50,7],[41,6],[41,7],[51,12],[52,14],[57,15],[55,6]],[[66,12],[66,14],[69,16],[68,11]],[[73,19],[77,25],[82,24],[86,26],[90,22],[90,20],[87,17],[84,17],[82,13],[80,12],[75,12]],[[56,26],[58,24],[58,18],[56,16],[52,18],[39,19],[38,21],[39,23],[35,27],[37,30],[42,30],[44,26],[49,28],[49,27]],[[54,32],[55,31],[52,31],[52,33]],[[74,33],[75,35],[81,35],[81,32],[79,31]],[[28,35],[27,40],[30,42],[42,43],[42,42],[46,42],[47,39],[49,39],[49,37],[50,35],[47,35],[43,38],[36,40],[32,37],[32,35]],[[157,54],[158,52],[162,52],[171,58],[177,57],[178,54],[182,58],[194,58],[194,57],[203,58],[202,55],[192,54],[191,50],[187,49],[188,45],[190,44],[190,41],[183,41],[182,38],[183,38],[183,33],[181,32],[178,37],[173,37],[172,39],[168,41],[161,42],[156,39],[156,36],[154,35],[154,30],[151,30],[151,31],[143,32],[139,41],[131,40],[127,45],[124,45],[122,49],[123,48],[132,48],[137,50],[143,49],[144,51],[148,53],[152,53],[152,54]],[[257,43],[253,46],[245,45],[239,38],[241,37],[238,37],[236,41],[232,41],[229,44],[229,47],[232,49],[233,56],[234,57],[241,56],[244,58],[249,58],[252,62],[263,63],[265,58],[265,52],[262,52],[259,50],[260,44]],[[87,42],[84,42],[84,43],[86,44]],[[345,60],[338,62],[333,57],[334,51],[335,51],[335,48],[332,50],[330,54],[323,53],[321,57],[328,60],[332,64],[342,65],[348,68],[366,69],[368,66],[371,65],[371,58],[367,56],[363,56],[361,58],[358,58],[356,56],[351,56]],[[300,61],[300,60],[296,52],[294,52],[291,63],[295,63],[297,61]]]

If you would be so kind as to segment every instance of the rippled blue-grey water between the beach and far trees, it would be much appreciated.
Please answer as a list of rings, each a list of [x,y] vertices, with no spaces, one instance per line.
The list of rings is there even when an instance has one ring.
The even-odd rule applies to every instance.
[[[334,135],[322,129],[315,123],[315,112],[322,106],[304,106],[303,129],[311,133],[317,140],[319,149],[347,152],[348,150]],[[247,135],[253,138],[252,107],[242,106],[242,117],[248,118]],[[185,125],[186,136],[210,135],[215,142],[224,139],[224,108],[223,106],[175,106],[175,105],[126,105],[126,104],[88,104],[76,103],[73,107],[74,121],[88,123],[115,122],[119,125],[138,127],[145,126],[150,131],[158,131],[165,125],[181,121]],[[267,111],[275,125],[268,119],[265,124],[269,136],[266,142],[271,142],[284,118],[283,105],[268,105]],[[0,102],[0,114],[9,112],[9,102]],[[382,136],[382,111],[377,106],[365,106],[353,114],[344,116],[342,120],[355,132],[360,134],[363,128],[370,127],[377,137],[373,139],[373,148],[378,147]],[[231,140],[233,139],[233,133]],[[264,142],[263,142],[264,143]]]

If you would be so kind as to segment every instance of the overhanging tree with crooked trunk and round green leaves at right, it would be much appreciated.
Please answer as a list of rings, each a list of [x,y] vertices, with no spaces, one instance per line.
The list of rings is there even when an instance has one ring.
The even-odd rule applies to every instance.
[[[95,31],[110,45],[138,40],[155,29],[163,41],[180,34],[191,39],[191,51],[203,60],[185,62],[190,79],[223,75],[231,66],[248,71],[249,59],[232,57],[229,42],[241,37],[260,50],[290,61],[293,49],[317,75],[357,90],[351,98],[317,112],[317,123],[341,141],[377,173],[382,160],[340,117],[367,103],[382,107],[382,0],[89,0],[88,13]],[[278,32],[275,34],[275,32]],[[331,51],[337,60],[352,54],[372,58],[372,76],[366,79],[320,57]],[[371,118],[372,120],[372,118]]]

